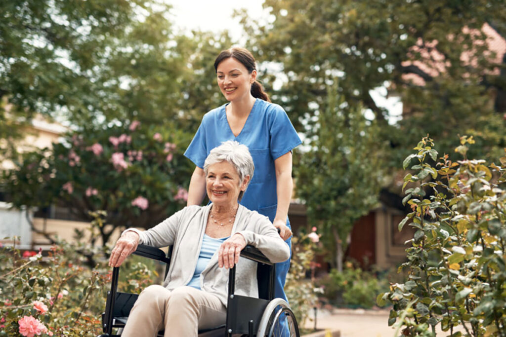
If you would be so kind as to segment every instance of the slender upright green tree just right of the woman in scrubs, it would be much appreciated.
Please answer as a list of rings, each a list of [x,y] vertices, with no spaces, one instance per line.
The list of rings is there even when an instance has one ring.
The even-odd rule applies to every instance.
[[[307,125],[309,151],[297,156],[296,187],[309,223],[318,226],[331,263],[342,271],[353,224],[377,203],[381,162],[375,152],[381,145],[376,123],[346,104],[336,87],[329,87],[325,110]]]

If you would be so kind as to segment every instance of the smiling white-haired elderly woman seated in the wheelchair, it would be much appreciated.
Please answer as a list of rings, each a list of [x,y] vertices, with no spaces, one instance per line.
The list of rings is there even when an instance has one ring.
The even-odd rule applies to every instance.
[[[174,245],[171,267],[161,285],[140,295],[124,327],[123,336],[196,336],[198,329],[225,323],[226,269],[235,264],[236,294],[256,297],[255,262],[240,259],[251,245],[272,262],[288,259],[288,245],[266,216],[239,205],[253,176],[254,164],[245,145],[226,141],[210,151],[204,163],[210,204],[188,206],[147,231],[125,230],[109,260],[117,267],[139,243]]]

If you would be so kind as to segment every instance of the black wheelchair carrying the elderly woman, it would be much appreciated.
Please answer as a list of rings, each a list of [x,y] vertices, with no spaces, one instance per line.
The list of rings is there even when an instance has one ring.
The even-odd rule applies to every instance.
[[[149,259],[165,263],[165,276],[171,262],[172,247],[167,255],[151,246],[139,245],[133,253]],[[227,318],[223,325],[199,330],[199,337],[226,336],[232,337],[300,337],[296,317],[288,303],[280,298],[274,298],[275,265],[269,261],[258,249],[246,246],[241,251],[241,257],[258,262],[257,280],[259,298],[235,295],[235,266],[229,270]],[[112,270],[111,290],[107,292],[105,312],[102,313],[103,334],[98,337],[117,337],[121,335],[122,327],[132,309],[137,294],[121,293],[117,291],[119,267]],[[116,333],[113,330],[116,329]],[[159,331],[157,337],[163,337]]]

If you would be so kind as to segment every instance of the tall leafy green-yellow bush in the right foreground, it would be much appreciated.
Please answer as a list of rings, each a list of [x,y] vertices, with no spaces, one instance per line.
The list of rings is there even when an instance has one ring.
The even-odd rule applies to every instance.
[[[404,161],[417,163],[406,174],[404,203],[412,209],[399,224],[416,228],[406,249],[404,283],[392,284],[379,304],[393,303],[389,325],[398,320],[403,335],[433,336],[440,325],[451,336],[506,335],[506,157],[501,167],[468,160],[461,137],[452,162],[429,137]],[[431,164],[436,162],[435,165]]]

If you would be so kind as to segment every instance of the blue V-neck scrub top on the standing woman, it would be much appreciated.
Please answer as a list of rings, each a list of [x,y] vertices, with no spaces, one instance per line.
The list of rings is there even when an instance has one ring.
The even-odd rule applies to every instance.
[[[227,104],[204,115],[185,156],[203,168],[209,152],[222,142],[236,140],[246,145],[255,163],[255,173],[240,203],[274,221],[277,208],[274,160],[302,141],[283,108],[261,99],[255,101],[236,137],[228,124],[225,112]]]

